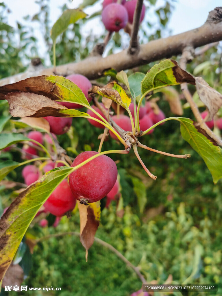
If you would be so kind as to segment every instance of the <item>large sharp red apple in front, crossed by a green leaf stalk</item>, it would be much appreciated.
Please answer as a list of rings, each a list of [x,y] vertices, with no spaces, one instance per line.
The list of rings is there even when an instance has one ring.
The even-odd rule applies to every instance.
[[[72,167],[96,154],[98,154],[96,151],[82,152],[75,158]],[[77,200],[85,198],[88,202],[96,202],[110,192],[116,179],[115,162],[106,155],[100,155],[71,173],[69,184]]]

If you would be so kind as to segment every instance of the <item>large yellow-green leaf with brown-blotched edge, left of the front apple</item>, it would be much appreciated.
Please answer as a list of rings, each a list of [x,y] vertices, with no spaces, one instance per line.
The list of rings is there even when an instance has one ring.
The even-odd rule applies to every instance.
[[[0,279],[9,267],[29,224],[54,189],[73,168],[59,167],[24,190],[0,220]]]

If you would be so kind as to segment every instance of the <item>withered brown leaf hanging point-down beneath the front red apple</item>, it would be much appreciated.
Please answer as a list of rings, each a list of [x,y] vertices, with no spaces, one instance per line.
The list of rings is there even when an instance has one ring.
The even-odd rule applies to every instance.
[[[86,249],[86,262],[88,259],[88,250],[94,242],[96,230],[100,221],[100,201],[89,203],[89,205],[78,202],[80,214],[80,241]]]

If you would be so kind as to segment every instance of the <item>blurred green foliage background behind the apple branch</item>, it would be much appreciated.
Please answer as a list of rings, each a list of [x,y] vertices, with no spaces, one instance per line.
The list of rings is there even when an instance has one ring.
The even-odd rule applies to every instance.
[[[4,49],[4,54],[0,55],[1,77],[25,70],[23,66],[25,61],[38,53],[36,39],[31,34],[31,20],[38,21],[44,26],[44,39],[52,59],[49,1],[40,0],[38,3],[40,11],[33,17],[26,17],[27,26],[18,24],[16,29],[7,28],[0,31],[1,39],[8,45],[7,49]],[[152,4],[155,4],[155,1],[150,1],[149,5]],[[0,21],[6,23],[7,7],[1,4],[1,9]],[[64,9],[65,6],[62,7],[62,10]],[[148,36],[142,29],[144,32],[142,42],[158,38],[163,30],[167,30],[165,26],[172,11],[172,3],[166,1],[165,7],[161,12],[160,10],[156,12],[159,15],[159,30]],[[80,30],[83,22],[85,21],[71,26],[59,38],[56,46],[57,64],[85,58],[93,45],[102,40],[103,36],[98,39],[92,34],[88,46],[84,46],[86,40],[83,40]],[[147,23],[147,26],[151,25]],[[24,37],[28,34],[25,32],[30,33],[29,37]],[[70,37],[72,36],[70,34],[75,34],[75,38]],[[19,44],[12,41],[15,36],[20,36]],[[110,53],[121,46],[120,34],[116,33],[111,42],[113,47]],[[2,43],[0,47],[3,48]],[[218,68],[221,69],[221,56],[215,49],[210,49],[205,55],[194,59],[188,70],[192,73],[197,65],[205,61],[209,63],[202,67],[198,75],[203,76],[211,86],[221,91],[222,75],[220,71],[216,71]],[[143,66],[139,71],[146,72],[152,65]],[[129,73],[132,73],[132,70],[129,70]],[[108,79],[101,78],[98,84],[106,83]],[[191,88],[191,91],[194,89]],[[173,115],[164,98],[161,97],[158,104],[167,117]],[[1,118],[7,116],[8,104],[1,102],[0,107]],[[204,108],[200,110],[203,111]],[[189,108],[184,110],[184,117],[193,118]],[[5,129],[10,128],[8,123]],[[98,149],[97,136],[101,130],[92,127],[86,119],[73,119],[73,133],[72,143],[68,134],[58,137],[62,147],[67,149],[70,156],[75,157],[77,153],[87,149]],[[76,147],[73,147],[74,142]],[[168,121],[163,126],[155,128],[154,133],[144,136],[141,142],[154,149],[174,154],[189,153],[192,157],[187,160],[176,159],[140,149],[139,153],[145,165],[157,175],[157,181],[154,182],[141,168],[133,152],[129,155],[111,155],[115,161],[119,161],[117,166],[122,187],[124,215],[122,218],[116,215],[117,205],[112,202],[109,209],[102,210],[101,225],[96,236],[112,244],[131,263],[139,266],[148,282],[157,280],[158,283],[163,283],[172,274],[174,283],[181,284],[188,279],[189,284],[219,284],[218,292],[213,295],[221,295],[221,180],[217,185],[213,184],[212,176],[203,160],[181,138],[177,122]],[[104,150],[118,148],[120,145],[112,139],[103,146]],[[0,157],[21,161],[20,154],[15,151],[1,153]],[[8,179],[23,182],[21,170],[22,168],[18,168],[10,173]],[[138,187],[141,189],[139,194],[136,184],[137,189]],[[5,189],[4,186],[0,187],[0,194],[2,208],[8,206],[15,197],[15,192]],[[28,231],[37,237],[58,232],[79,231],[78,211],[70,219],[63,217],[56,229],[52,227],[41,229],[33,223]],[[94,243],[89,250],[86,263],[85,250],[79,238],[75,236],[50,238],[38,243],[32,258],[27,249],[20,265],[27,267],[31,261],[33,264],[30,271],[25,272],[27,277],[24,285],[62,289],[59,292],[50,291],[41,294],[39,291],[31,291],[25,292],[24,295],[122,296],[130,295],[141,288],[141,281],[131,268],[98,243]],[[210,293],[199,294],[203,296]],[[199,294],[189,293],[189,295]],[[7,295],[7,292],[2,291],[1,295]],[[10,292],[9,295],[17,295],[17,292]],[[22,292],[19,295],[22,295]]]

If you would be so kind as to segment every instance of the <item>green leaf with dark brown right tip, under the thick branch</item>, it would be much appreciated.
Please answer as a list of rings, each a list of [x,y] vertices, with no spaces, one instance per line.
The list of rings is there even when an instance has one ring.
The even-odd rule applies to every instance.
[[[176,61],[165,59],[154,65],[141,81],[141,93],[145,94],[151,90],[163,86],[176,85],[183,82],[195,85],[194,77],[182,70]]]

